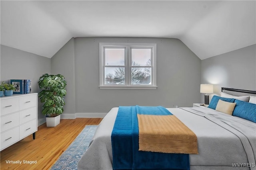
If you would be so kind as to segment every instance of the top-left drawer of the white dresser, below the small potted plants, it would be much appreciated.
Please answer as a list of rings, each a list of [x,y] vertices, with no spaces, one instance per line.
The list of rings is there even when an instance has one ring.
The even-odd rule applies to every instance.
[[[19,98],[1,100],[1,116],[19,110]]]

